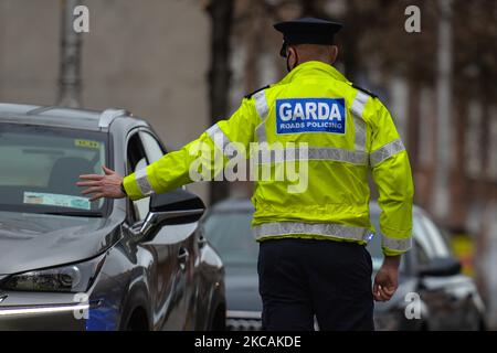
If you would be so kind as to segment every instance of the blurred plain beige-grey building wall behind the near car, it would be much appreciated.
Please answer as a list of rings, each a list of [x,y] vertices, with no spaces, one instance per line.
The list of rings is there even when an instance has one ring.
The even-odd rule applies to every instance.
[[[209,126],[209,17],[195,0],[84,0],[82,101],[124,107],[181,147]],[[0,101],[54,105],[60,0],[0,0]],[[207,185],[192,185],[208,199]]]

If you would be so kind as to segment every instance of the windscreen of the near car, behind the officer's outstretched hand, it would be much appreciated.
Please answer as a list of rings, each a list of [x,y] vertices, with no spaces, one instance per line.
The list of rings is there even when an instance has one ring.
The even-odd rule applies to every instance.
[[[76,129],[0,125],[0,210],[103,215],[107,202],[89,202],[80,174],[108,164],[107,135]],[[112,167],[112,165],[109,165]]]

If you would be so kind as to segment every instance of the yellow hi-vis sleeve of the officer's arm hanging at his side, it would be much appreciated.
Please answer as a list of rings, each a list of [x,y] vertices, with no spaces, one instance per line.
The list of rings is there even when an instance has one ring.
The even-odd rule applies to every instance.
[[[411,165],[390,113],[377,98],[370,104],[370,111],[373,111],[370,119],[370,164],[382,211],[382,248],[384,255],[394,256],[409,250],[412,243],[414,186]]]

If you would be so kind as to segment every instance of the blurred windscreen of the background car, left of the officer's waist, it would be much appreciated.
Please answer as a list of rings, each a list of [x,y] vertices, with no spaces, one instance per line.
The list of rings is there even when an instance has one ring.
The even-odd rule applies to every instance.
[[[205,236],[226,266],[255,266],[258,244],[251,229],[252,212],[213,212],[204,224]]]

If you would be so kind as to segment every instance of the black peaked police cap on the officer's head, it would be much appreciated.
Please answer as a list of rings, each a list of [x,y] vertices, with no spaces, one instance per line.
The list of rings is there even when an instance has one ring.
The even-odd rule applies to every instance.
[[[283,33],[283,46],[279,54],[286,56],[286,46],[293,44],[332,45],[335,33],[343,25],[315,18],[304,18],[274,24],[276,31]]]

